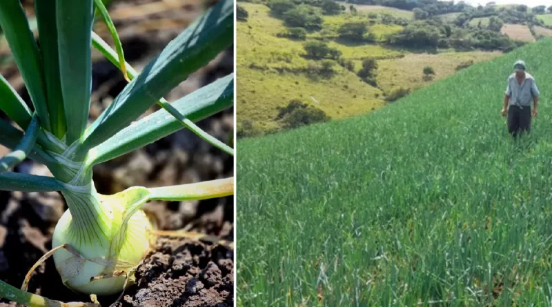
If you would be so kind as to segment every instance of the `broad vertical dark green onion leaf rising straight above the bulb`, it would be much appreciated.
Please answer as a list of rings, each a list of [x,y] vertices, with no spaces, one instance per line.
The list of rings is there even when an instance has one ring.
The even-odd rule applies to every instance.
[[[92,0],[56,1],[61,92],[67,143],[80,139],[88,123],[92,87]]]

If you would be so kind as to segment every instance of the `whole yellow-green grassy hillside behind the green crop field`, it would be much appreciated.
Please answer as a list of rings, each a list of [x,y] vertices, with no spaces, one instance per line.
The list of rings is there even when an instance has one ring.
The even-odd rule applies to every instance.
[[[308,71],[320,61],[304,57],[305,41],[278,37],[286,29],[283,21],[270,16],[262,4],[239,3],[248,11],[248,20],[237,24],[237,121],[248,121],[255,130],[270,132],[281,128],[275,120],[278,107],[299,99],[326,112],[333,119],[351,117],[386,104],[385,97],[395,88],[415,89],[431,81],[422,80],[422,70],[432,66],[435,80],[447,77],[464,61],[485,61],[500,55],[498,52],[444,52],[437,55],[413,54],[377,43],[353,43],[330,39],[328,46],[342,52],[342,59],[351,60],[353,72],[335,66],[332,77],[309,76]],[[322,31],[309,32],[308,41],[322,37],[337,37],[344,23],[368,21],[366,14],[324,16]],[[377,22],[368,31],[377,38],[402,30],[396,24]],[[357,77],[362,60],[378,59],[378,88]]]

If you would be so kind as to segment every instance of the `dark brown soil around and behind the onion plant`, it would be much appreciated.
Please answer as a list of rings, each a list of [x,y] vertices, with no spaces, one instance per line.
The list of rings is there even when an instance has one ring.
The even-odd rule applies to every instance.
[[[171,1],[166,1],[171,2]],[[172,1],[175,2],[175,1]],[[166,44],[201,13],[203,4],[193,3],[137,14],[141,6],[164,1],[115,0],[111,11],[121,34],[126,59],[141,70]],[[192,4],[190,4],[192,3]],[[168,4],[165,4],[168,5]],[[128,10],[130,8],[131,10]],[[150,8],[150,7],[148,7]],[[128,12],[132,17],[124,18]],[[154,26],[152,26],[154,25]],[[103,39],[110,38],[101,28]],[[126,81],[115,66],[95,55],[92,67],[90,122],[119,94]],[[188,77],[166,99],[175,101],[197,88],[233,72],[233,48]],[[29,103],[17,68],[0,71]],[[149,112],[154,112],[152,108]],[[6,118],[0,112],[0,117]],[[233,146],[233,110],[226,110],[197,123],[210,135]],[[6,148],[0,146],[0,155]],[[130,186],[168,186],[232,177],[233,157],[213,148],[189,130],[180,130],[127,155],[96,166],[94,181],[101,194],[114,194]],[[30,160],[17,172],[49,175],[48,169]],[[17,288],[29,268],[51,246],[52,232],[67,209],[57,192],[23,193],[0,191],[0,279]],[[144,210],[155,216],[161,230],[185,229],[233,241],[233,197],[205,201],[151,201]],[[130,306],[233,306],[233,250],[221,244],[160,237],[155,250],[137,271],[137,283],[125,292],[119,307]],[[61,283],[52,259],[32,275],[28,290],[59,301],[90,301]],[[98,297],[101,306],[117,299]],[[0,306],[14,306],[1,299]]]

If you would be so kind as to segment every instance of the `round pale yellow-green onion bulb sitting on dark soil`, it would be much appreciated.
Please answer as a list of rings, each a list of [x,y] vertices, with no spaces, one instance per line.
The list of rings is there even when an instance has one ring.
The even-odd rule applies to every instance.
[[[150,221],[140,210],[146,188],[99,195],[93,184],[62,191],[69,209],[55,228],[53,257],[63,284],[80,293],[112,295],[134,281],[135,270],[153,244]],[[128,277],[128,279],[127,279]],[[126,282],[130,281],[130,282]]]

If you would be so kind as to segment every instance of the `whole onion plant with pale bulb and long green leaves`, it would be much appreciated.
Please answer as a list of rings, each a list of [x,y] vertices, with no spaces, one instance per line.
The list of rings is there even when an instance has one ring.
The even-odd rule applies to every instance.
[[[194,124],[233,106],[233,74],[173,103],[163,99],[233,44],[233,1],[221,0],[206,10],[140,73],[124,61],[102,1],[39,0],[34,6],[39,43],[20,1],[0,4],[0,27],[32,101],[29,108],[0,76],[0,109],[20,128],[0,120],[0,143],[12,149],[0,159],[0,190],[61,192],[68,210],[55,228],[53,249],[30,273],[52,256],[63,284],[91,295],[92,303],[69,306],[96,306],[95,295],[120,293],[132,284],[135,268],[151,246],[155,230],[141,210],[146,201],[233,195],[233,178],[181,186],[135,186],[115,195],[99,194],[92,180],[93,166],[182,128],[233,155],[232,148]],[[92,32],[95,16],[106,21],[117,51]],[[120,68],[130,83],[89,126],[92,46]],[[139,119],[155,103],[161,110]],[[10,171],[26,158],[45,164],[53,177]],[[60,304],[26,292],[30,273],[21,290],[0,281],[0,297],[26,306]]]

